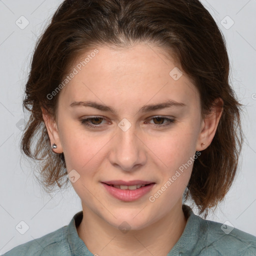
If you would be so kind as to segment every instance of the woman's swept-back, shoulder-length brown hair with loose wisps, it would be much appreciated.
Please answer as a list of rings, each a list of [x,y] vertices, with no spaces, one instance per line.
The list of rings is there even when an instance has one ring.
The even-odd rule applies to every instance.
[[[127,47],[137,42],[174,53],[180,69],[199,91],[202,114],[210,111],[215,98],[224,102],[211,144],[194,160],[185,196],[193,199],[200,214],[207,212],[223,199],[236,173],[243,142],[242,105],[229,85],[223,35],[198,0],[63,1],[33,52],[23,100],[23,108],[31,113],[22,134],[22,150],[40,161],[41,182],[47,191],[55,184],[66,184],[64,155],[51,150],[40,107],[56,117],[58,94],[52,99],[47,95],[81,53],[100,45]]]

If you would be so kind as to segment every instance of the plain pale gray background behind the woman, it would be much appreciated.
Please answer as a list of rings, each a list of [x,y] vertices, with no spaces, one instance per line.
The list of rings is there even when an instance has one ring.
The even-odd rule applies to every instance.
[[[53,197],[47,195],[33,177],[33,166],[20,159],[19,150],[23,122],[27,119],[21,100],[30,57],[37,36],[60,2],[0,0],[0,254],[68,224],[74,213],[81,210],[80,199],[71,185]],[[230,80],[245,105],[242,124],[246,136],[239,173],[224,202],[207,219],[229,221],[234,227],[256,235],[256,0],[201,2],[225,36]],[[29,22],[23,29],[20,26],[25,25],[25,19],[20,16]],[[20,19],[22,24],[18,26],[15,22]],[[20,221],[29,226],[24,234],[15,229]]]

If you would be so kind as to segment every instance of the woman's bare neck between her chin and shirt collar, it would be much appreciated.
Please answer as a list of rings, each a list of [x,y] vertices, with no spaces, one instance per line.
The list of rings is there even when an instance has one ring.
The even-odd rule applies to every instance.
[[[121,232],[82,204],[83,218],[78,236],[94,255],[166,256],[181,236],[186,217],[181,202],[156,222],[139,230]]]

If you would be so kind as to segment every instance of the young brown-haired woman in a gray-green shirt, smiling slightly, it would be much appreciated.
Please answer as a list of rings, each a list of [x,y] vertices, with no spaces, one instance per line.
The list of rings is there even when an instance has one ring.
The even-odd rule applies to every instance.
[[[4,255],[256,255],[256,237],[183,204],[206,216],[234,179],[228,73],[198,0],[65,0],[33,54],[21,144],[82,211]]]

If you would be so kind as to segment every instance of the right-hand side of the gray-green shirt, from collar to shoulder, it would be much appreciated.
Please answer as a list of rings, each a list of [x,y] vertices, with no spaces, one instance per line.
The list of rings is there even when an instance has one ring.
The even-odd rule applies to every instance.
[[[186,204],[182,209],[187,222],[169,255],[256,256],[255,236],[234,228],[228,221],[203,219]]]

